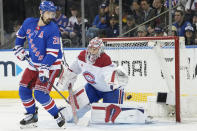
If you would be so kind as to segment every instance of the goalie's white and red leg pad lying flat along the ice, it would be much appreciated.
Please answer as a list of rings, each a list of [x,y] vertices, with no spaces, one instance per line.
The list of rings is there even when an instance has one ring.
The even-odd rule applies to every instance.
[[[93,123],[145,123],[144,109],[123,104],[93,103]]]

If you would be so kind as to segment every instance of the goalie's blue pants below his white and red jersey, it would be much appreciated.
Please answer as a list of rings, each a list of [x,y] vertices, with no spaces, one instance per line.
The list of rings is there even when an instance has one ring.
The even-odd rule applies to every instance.
[[[110,92],[101,92],[94,88],[94,86],[92,86],[91,84],[87,83],[85,85],[85,90],[90,103],[98,102],[100,99],[103,99],[103,103],[123,103],[123,89],[115,89]]]

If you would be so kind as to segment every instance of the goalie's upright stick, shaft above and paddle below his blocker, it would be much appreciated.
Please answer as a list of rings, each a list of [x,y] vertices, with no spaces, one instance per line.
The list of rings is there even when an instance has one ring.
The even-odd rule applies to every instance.
[[[60,38],[60,45],[61,45],[61,51],[62,51],[62,55],[63,55],[63,59],[62,59],[63,64],[68,68],[69,65],[66,62],[66,58],[65,58],[65,54],[64,54],[64,49],[63,49],[63,46],[62,46],[62,38]],[[74,122],[75,122],[75,124],[77,124],[79,118],[77,116],[77,109],[76,109],[76,106],[75,106],[74,95],[73,95],[73,90],[72,90],[71,83],[68,86],[68,93],[69,93],[69,98],[70,98],[69,101],[70,101],[70,105],[71,105],[71,108],[72,108]]]

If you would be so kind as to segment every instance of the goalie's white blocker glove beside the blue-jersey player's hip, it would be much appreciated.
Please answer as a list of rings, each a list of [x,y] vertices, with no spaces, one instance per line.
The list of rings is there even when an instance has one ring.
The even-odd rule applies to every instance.
[[[63,69],[62,69],[62,72],[60,74],[59,81],[58,81],[58,84],[63,86],[63,90],[67,90],[69,84],[71,84],[71,86],[73,87],[76,80],[77,80],[77,74],[74,73],[69,68],[66,68],[65,66],[63,66]]]

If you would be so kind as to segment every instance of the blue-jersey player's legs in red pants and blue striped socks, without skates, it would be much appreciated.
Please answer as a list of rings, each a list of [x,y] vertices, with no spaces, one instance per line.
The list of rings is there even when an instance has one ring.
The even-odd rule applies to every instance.
[[[52,84],[58,76],[60,70],[50,70],[49,81],[41,83],[38,72],[25,69],[20,81],[19,96],[28,114],[35,113],[35,100],[33,98],[33,90],[35,99],[47,110],[52,116],[58,115],[58,108],[54,100],[49,96]]]

